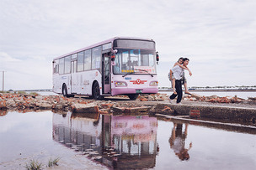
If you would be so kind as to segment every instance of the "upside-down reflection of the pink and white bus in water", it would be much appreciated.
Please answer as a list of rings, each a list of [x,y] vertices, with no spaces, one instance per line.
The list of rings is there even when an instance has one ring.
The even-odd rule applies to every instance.
[[[109,167],[155,167],[157,118],[55,113],[53,139]]]

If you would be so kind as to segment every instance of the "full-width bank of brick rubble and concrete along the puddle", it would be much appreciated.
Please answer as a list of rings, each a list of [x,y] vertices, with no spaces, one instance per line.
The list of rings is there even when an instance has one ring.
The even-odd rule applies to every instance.
[[[61,95],[16,95],[0,93],[0,110],[18,111],[72,111],[74,113],[140,113],[205,117],[220,120],[255,123],[256,98],[243,100],[232,97],[184,95],[182,105],[169,102],[168,95],[140,95],[136,100],[126,96],[91,100],[85,97],[67,98]],[[0,111],[1,114],[1,111]]]

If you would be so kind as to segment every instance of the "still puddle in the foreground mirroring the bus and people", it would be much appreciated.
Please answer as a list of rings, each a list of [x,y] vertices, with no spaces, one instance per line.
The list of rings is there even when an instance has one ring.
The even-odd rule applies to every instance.
[[[0,169],[31,159],[58,169],[253,169],[256,130],[155,116],[8,112],[0,116]],[[48,167],[49,168],[49,167]]]

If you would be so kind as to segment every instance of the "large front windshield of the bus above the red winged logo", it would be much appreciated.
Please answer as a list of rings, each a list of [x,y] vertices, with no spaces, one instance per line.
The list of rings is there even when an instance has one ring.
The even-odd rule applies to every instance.
[[[115,54],[113,73],[116,74],[156,74],[155,50],[118,49]]]

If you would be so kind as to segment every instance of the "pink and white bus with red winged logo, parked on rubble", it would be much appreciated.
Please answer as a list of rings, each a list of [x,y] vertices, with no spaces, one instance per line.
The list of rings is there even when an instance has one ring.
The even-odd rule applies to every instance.
[[[70,97],[158,92],[159,60],[152,39],[115,37],[53,59],[53,92]]]

